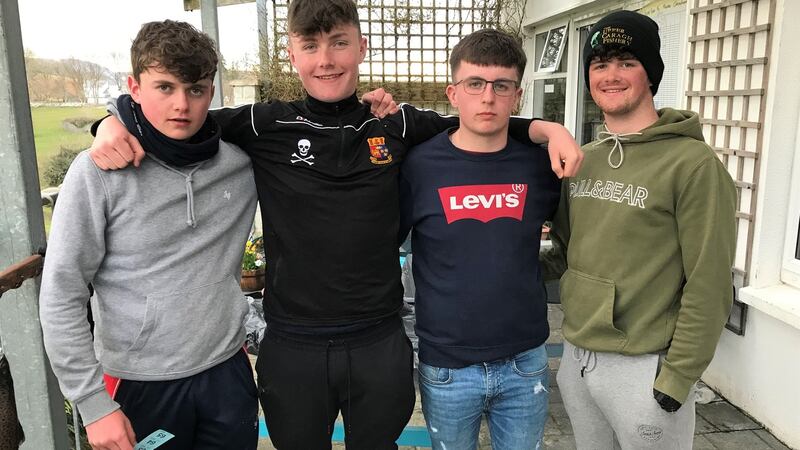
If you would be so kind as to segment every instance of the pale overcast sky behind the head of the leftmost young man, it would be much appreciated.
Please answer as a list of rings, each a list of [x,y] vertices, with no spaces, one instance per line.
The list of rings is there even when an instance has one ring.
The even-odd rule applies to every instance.
[[[18,0],[22,42],[40,58],[78,58],[129,71],[131,41],[153,20],[183,20],[200,28],[200,11],[182,0]],[[218,10],[226,62],[257,61],[256,4]]]

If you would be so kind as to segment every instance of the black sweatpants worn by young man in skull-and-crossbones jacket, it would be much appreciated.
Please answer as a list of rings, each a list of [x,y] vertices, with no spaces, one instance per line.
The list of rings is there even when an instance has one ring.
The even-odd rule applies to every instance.
[[[413,354],[399,317],[327,338],[268,326],[256,372],[279,450],[330,449],[339,411],[348,450],[396,449],[414,409]]]

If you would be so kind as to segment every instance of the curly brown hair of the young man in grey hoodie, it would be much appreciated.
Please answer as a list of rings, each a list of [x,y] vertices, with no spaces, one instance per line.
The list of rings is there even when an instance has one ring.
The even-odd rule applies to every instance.
[[[156,67],[184,83],[213,80],[217,61],[214,41],[186,22],[148,22],[131,44],[131,68],[136,81],[142,72]]]

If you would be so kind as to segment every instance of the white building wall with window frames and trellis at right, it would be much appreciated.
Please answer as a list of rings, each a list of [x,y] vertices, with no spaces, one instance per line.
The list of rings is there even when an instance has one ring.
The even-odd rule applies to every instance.
[[[608,11],[661,2],[529,0],[526,51],[535,35],[568,23],[569,37]],[[724,10],[724,11],[723,11]],[[800,1],[688,0],[680,101],[701,114],[704,134],[737,181],[737,298],[746,305],[744,334],[723,330],[703,376],[715,390],[800,449]],[[581,94],[572,42],[565,125],[575,131]],[[535,58],[529,58],[535,60]],[[553,79],[533,66],[532,80]],[[523,111],[533,110],[533,96]],[[579,107],[578,107],[579,109]]]

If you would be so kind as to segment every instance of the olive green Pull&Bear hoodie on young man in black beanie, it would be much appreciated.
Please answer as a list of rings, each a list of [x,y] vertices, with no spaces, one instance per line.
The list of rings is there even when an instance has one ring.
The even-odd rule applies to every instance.
[[[658,114],[641,134],[601,133],[584,146],[542,263],[545,277],[563,273],[567,340],[666,352],[653,387],[684,402],[730,310],[736,189],[695,113]]]

